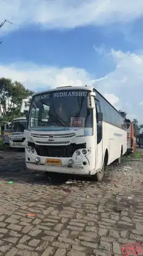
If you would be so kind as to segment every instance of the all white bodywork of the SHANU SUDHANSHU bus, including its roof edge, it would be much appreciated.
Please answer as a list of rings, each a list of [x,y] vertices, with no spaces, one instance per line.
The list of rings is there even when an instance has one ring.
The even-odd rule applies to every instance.
[[[73,89],[74,87],[72,87]],[[87,90],[87,87],[75,87],[77,89]],[[88,90],[92,88],[88,87]],[[58,89],[56,89],[58,90]],[[63,90],[60,88],[59,90]],[[69,89],[70,90],[70,89]],[[53,91],[53,90],[52,90]],[[120,158],[121,151],[124,155],[126,153],[127,147],[127,135],[126,130],[120,129],[119,127],[108,124],[107,122],[102,122],[102,140],[97,144],[97,123],[96,123],[96,108],[93,109],[93,134],[87,135],[86,128],[80,129],[67,129],[67,130],[57,130],[57,131],[36,131],[25,130],[25,161],[28,169],[37,171],[48,171],[56,173],[67,173],[67,174],[82,174],[82,175],[94,175],[100,169],[102,169],[104,163],[105,151],[108,151],[108,162],[107,165]],[[88,134],[90,134],[88,130]],[[50,135],[54,136],[54,141],[50,142]],[[85,135],[86,134],[86,135]],[[86,156],[80,153],[76,155],[76,151],[70,157],[57,158],[38,155],[37,151],[31,151],[32,146],[29,147],[28,143],[34,143],[36,147],[43,147],[51,145],[70,145],[71,143],[81,144],[86,143]],[[31,144],[32,145],[32,144]],[[80,152],[82,148],[78,149]],[[40,163],[36,163],[36,157],[40,158]],[[60,160],[61,166],[52,166],[51,164],[46,164],[46,160]],[[74,164],[69,167],[69,160],[73,160]],[[83,163],[86,162],[86,165]]]

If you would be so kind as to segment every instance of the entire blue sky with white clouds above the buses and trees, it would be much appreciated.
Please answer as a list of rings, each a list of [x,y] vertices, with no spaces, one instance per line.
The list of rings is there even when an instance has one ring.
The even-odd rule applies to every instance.
[[[143,0],[1,0],[0,77],[90,85],[143,124]]]

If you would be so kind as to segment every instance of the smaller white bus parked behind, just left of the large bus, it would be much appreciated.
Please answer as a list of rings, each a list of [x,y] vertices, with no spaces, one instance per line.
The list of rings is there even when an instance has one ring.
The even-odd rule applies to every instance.
[[[12,148],[25,148],[24,130],[27,126],[26,117],[15,118],[11,123],[9,146]]]

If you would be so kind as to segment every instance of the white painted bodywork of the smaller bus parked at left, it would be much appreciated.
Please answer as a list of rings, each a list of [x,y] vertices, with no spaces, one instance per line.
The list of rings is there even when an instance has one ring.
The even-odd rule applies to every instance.
[[[22,118],[15,118],[12,122],[20,121],[20,119],[26,120],[26,118],[22,117]],[[25,133],[24,132],[10,132],[9,146],[10,146],[10,148],[25,148]]]

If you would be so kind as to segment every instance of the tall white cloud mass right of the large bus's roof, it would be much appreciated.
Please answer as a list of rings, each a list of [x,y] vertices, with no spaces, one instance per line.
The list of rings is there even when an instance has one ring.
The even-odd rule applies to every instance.
[[[136,117],[143,123],[143,55],[112,50],[111,56],[115,69],[97,82],[97,88],[102,93],[108,91],[108,94],[120,98],[116,106],[120,105],[120,108],[128,113],[129,118]]]

